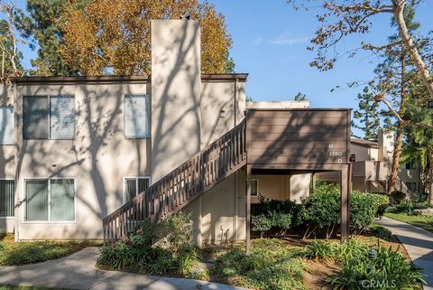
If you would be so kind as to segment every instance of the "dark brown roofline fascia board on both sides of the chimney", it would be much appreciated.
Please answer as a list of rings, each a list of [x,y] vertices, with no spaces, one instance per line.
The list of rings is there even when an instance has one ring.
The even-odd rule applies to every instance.
[[[201,80],[246,80],[247,73],[202,74]],[[99,77],[19,77],[11,78],[16,84],[49,84],[64,82],[151,82],[151,76],[99,76]]]

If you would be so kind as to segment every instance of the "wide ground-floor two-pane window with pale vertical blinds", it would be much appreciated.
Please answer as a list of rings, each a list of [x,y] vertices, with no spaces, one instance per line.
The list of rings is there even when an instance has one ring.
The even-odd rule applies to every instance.
[[[24,220],[75,220],[75,182],[73,179],[25,180],[24,194]]]

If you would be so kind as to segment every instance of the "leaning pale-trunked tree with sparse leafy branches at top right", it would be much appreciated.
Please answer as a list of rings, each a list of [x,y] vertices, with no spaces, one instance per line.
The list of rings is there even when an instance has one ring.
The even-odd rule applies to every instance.
[[[408,5],[419,4],[419,1],[409,0],[287,0],[288,3],[299,8],[299,6],[308,6],[306,3],[317,2],[322,5],[324,12],[318,14],[320,23],[315,36],[311,40],[311,51],[317,51],[317,56],[310,65],[317,67],[319,70],[330,70],[334,67],[335,62],[340,57],[336,48],[339,42],[352,34],[365,34],[375,27],[375,15],[389,14],[390,20],[395,22],[396,32],[399,34],[399,40],[388,42],[385,45],[374,45],[373,43],[361,42],[361,48],[368,51],[382,51],[392,46],[402,45],[410,56],[410,60],[416,67],[416,72],[420,80],[428,89],[430,98],[433,98],[433,81],[431,80],[428,62],[432,58],[432,52],[428,51],[427,55],[422,55],[417,47],[413,35],[410,33],[405,21],[405,10]],[[300,4],[299,4],[300,3]],[[428,35],[430,36],[430,35]],[[428,38],[431,42],[431,37]],[[355,56],[356,51],[349,52],[350,57]]]

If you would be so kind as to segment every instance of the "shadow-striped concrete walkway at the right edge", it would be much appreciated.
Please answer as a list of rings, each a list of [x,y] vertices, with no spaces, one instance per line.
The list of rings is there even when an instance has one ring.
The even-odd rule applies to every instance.
[[[433,233],[386,217],[376,222],[390,229],[400,239],[413,264],[424,270],[424,280],[428,283],[424,289],[433,290]]]

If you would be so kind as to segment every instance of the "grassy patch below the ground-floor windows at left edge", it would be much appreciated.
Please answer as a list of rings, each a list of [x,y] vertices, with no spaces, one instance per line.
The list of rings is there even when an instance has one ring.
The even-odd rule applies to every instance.
[[[44,262],[66,257],[83,248],[97,246],[94,241],[21,241],[13,235],[0,237],[0,266],[14,266]],[[20,288],[18,288],[20,289]],[[23,288],[25,289],[25,288]],[[0,288],[3,290],[3,288]]]

